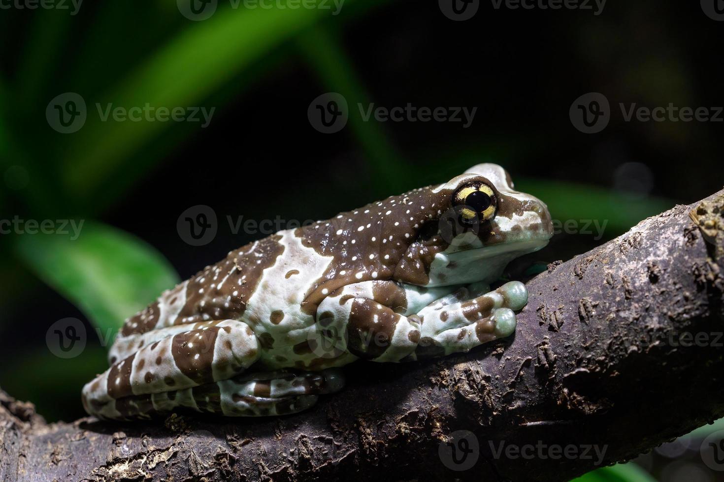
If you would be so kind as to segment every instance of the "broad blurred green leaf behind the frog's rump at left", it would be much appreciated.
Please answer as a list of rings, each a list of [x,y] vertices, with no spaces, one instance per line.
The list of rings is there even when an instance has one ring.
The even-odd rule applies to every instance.
[[[178,283],[169,262],[128,233],[90,222],[77,239],[68,230],[67,236],[20,235],[16,248],[38,277],[101,330],[117,330],[130,314]]]

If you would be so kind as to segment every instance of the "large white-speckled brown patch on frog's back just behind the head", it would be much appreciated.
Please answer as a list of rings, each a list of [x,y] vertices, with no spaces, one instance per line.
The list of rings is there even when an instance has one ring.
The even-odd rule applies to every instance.
[[[332,257],[324,275],[306,293],[303,311],[315,314],[327,294],[361,281],[394,278],[402,283],[425,284],[431,253],[441,246],[416,250],[413,256],[420,259],[419,267],[417,262],[405,262],[402,267],[398,264],[417,241],[421,226],[450,209],[452,189],[433,190],[433,186],[415,189],[297,228],[295,236],[301,238],[303,246]],[[325,289],[327,293],[323,293]]]

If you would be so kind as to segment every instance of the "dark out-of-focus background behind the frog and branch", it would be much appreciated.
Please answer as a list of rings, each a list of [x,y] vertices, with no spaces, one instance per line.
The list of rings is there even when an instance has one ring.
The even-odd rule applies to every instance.
[[[544,199],[555,219],[606,220],[602,240],[560,233],[530,261],[567,259],[723,184],[722,122],[627,122],[618,104],[723,106],[724,22],[707,17],[699,2],[610,0],[599,15],[591,6],[494,9],[482,1],[471,20],[455,22],[434,1],[347,0],[339,15],[322,12],[281,33],[240,25],[218,45],[194,40],[174,51],[188,58],[187,70],[159,74],[156,90],[133,79],[158,64],[159,52],[201,24],[249,12],[222,1],[210,20],[191,22],[172,1],[88,1],[75,16],[0,9],[0,218],[111,225],[148,243],[185,279],[268,234],[232,233],[227,215],[329,218],[491,161]],[[196,51],[214,56],[232,43],[248,60],[227,57],[213,69],[195,60]],[[222,80],[204,83],[215,75]],[[185,82],[193,95],[178,103],[144,93],[166,95]],[[89,121],[75,134],[55,132],[45,116],[63,92],[88,103]],[[350,121],[336,134],[321,134],[308,120],[308,106],[324,92],[340,92],[350,105]],[[596,134],[579,132],[569,117],[586,92],[610,102],[610,124]],[[127,142],[114,130],[118,123],[97,122],[95,102],[216,111],[206,129],[140,123],[152,132]],[[363,122],[358,102],[478,110],[463,129]],[[177,232],[180,214],[195,205],[219,217],[205,246],[190,246]],[[28,236],[0,235],[0,386],[33,400],[49,420],[72,420],[83,416],[80,387],[105,368],[104,348],[78,303],[29,269],[32,260],[19,254]],[[66,317],[88,330],[88,346],[70,360],[49,353],[45,341],[51,324]]]

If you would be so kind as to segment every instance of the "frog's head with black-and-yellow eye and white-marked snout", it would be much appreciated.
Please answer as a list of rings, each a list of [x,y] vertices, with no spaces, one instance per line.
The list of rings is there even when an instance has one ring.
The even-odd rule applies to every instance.
[[[424,260],[426,286],[492,283],[511,260],[542,249],[553,229],[546,205],[513,189],[500,165],[479,164],[432,187],[437,215],[421,226],[401,264]],[[397,266],[398,279],[405,270]],[[408,280],[408,283],[412,280]]]

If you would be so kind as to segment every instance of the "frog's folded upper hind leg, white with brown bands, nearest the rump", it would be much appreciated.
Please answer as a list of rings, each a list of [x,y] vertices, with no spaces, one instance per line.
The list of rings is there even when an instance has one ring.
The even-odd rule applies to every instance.
[[[256,335],[248,324],[232,319],[161,328],[148,336],[156,341],[136,346],[130,356],[113,363],[83,387],[83,405],[88,413],[123,418],[121,409],[129,400],[122,399],[126,397],[180,391],[229,379],[259,357]]]

